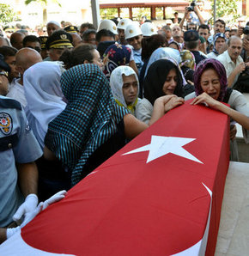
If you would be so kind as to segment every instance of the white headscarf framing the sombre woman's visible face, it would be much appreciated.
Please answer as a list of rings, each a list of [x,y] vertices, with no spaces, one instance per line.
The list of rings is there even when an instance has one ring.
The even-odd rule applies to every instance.
[[[134,75],[137,80],[137,96],[139,94],[139,82],[136,72],[131,69],[131,67],[128,66],[119,66],[115,70],[112,71],[111,77],[110,77],[110,86],[112,88],[112,94],[114,96],[115,101],[118,103],[119,106],[123,106],[128,108],[131,113],[135,112],[135,107],[137,105],[137,98],[132,104],[128,105],[125,102],[125,97],[123,94],[123,76],[131,76]]]

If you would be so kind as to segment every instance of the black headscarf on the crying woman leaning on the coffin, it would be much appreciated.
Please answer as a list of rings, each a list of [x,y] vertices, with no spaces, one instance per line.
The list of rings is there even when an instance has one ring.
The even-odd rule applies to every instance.
[[[174,94],[182,97],[183,80],[178,66],[169,59],[159,59],[151,64],[148,74],[144,80],[144,97],[154,105],[157,98],[165,95],[162,91],[164,82],[170,70],[175,69],[177,74],[177,86],[174,89]]]

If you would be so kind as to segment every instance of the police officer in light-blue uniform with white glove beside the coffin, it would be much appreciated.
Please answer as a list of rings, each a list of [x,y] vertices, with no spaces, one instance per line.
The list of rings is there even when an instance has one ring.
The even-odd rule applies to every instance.
[[[2,58],[0,70],[8,70]],[[0,227],[8,227],[13,219],[25,220],[36,208],[38,170],[34,161],[41,155],[21,104],[0,95]]]

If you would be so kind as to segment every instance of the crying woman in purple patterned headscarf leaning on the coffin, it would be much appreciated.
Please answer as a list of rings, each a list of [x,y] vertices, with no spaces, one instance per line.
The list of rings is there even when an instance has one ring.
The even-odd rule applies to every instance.
[[[197,65],[194,74],[195,93],[189,94],[185,100],[196,96],[191,104],[203,103],[207,107],[214,108],[228,116],[235,122],[242,125],[244,137],[248,141],[249,134],[249,107],[243,94],[232,88],[228,88],[226,70],[221,62],[214,58],[204,59]],[[228,103],[230,107],[222,104]],[[234,141],[236,126],[231,122],[230,138]],[[238,161],[238,150],[235,141],[231,145],[231,160]]]

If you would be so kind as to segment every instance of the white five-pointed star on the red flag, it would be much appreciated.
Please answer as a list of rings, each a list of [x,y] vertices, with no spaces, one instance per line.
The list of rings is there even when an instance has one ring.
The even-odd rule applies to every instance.
[[[164,136],[151,136],[151,143],[141,148],[131,150],[123,155],[133,154],[137,152],[143,152],[149,150],[147,162],[151,162],[162,155],[172,153],[190,159],[194,162],[200,162],[194,155],[191,155],[188,151],[183,149],[183,146],[187,143],[191,143],[195,138],[188,137],[164,137]],[[200,162],[203,163],[203,162]]]

